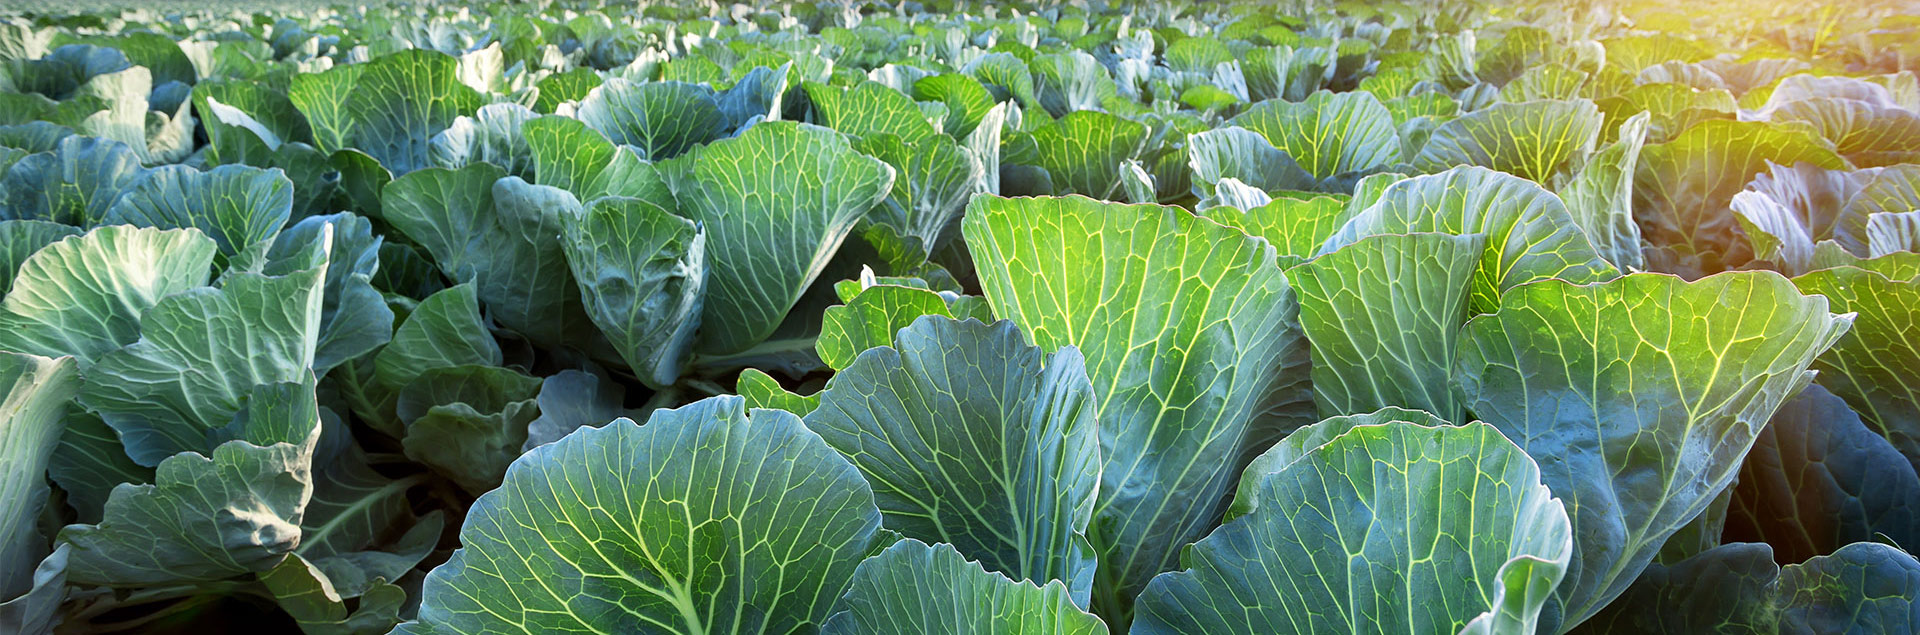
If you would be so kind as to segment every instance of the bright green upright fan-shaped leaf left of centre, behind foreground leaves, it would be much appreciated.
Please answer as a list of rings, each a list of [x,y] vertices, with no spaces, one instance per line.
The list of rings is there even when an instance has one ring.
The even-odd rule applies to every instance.
[[[707,228],[699,353],[751,349],[893,186],[887,163],[829,129],[768,121],[660,163],[680,213]]]

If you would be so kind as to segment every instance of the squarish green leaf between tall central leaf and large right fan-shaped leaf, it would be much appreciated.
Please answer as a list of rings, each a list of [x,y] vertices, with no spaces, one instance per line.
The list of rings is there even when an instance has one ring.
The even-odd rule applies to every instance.
[[[1486,236],[1384,234],[1286,270],[1321,416],[1382,407],[1461,418],[1453,351]]]

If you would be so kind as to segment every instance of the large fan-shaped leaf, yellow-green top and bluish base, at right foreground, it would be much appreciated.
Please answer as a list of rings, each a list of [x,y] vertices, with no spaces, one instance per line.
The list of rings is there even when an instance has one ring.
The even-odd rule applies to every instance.
[[[1546,631],[1613,600],[1732,483],[1764,422],[1851,317],[1774,272],[1515,288],[1467,322],[1467,409],[1546,460],[1576,554]]]

